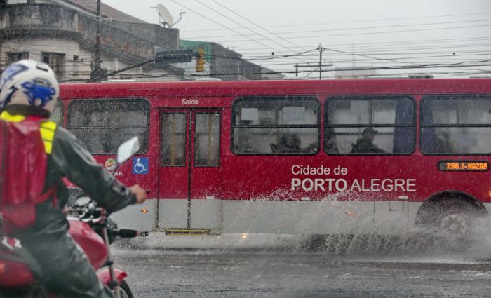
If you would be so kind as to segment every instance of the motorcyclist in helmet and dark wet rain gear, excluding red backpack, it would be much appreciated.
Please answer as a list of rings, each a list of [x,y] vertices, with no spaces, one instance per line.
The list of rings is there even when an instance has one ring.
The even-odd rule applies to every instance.
[[[68,235],[62,209],[68,191],[64,177],[81,187],[109,212],[143,203],[146,191],[127,188],[97,163],[86,147],[67,130],[48,121],[58,100],[53,70],[41,62],[20,60],[5,69],[0,81],[0,118],[22,121],[26,116],[46,118],[52,133],[41,133],[46,148],[45,191],[56,187],[51,199],[36,205],[36,220],[27,229],[13,231],[41,265],[41,282],[59,297],[114,297],[97,279],[88,258]]]

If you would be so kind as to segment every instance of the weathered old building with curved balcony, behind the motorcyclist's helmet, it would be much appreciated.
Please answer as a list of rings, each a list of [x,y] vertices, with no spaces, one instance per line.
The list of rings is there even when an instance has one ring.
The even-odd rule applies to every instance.
[[[95,8],[95,3],[91,0],[65,1],[64,5],[52,1],[2,1],[1,68],[29,58],[51,65],[60,81],[88,80],[94,61],[97,22],[91,8]],[[101,11],[102,68],[108,72],[150,59],[161,50],[177,50],[179,46],[177,29],[147,24],[106,5],[102,5]],[[175,67],[159,69],[161,75],[180,73],[175,72]],[[137,67],[108,79],[128,79],[142,74],[144,69]]]

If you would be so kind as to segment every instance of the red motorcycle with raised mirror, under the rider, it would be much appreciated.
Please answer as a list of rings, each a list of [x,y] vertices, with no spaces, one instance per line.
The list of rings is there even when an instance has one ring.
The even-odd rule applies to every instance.
[[[117,154],[118,165],[130,159],[139,149],[138,137],[121,144]],[[109,212],[84,194],[76,198],[71,215],[67,216],[69,235],[86,253],[101,283],[114,291],[117,298],[133,298],[125,280],[128,274],[114,269],[109,245],[116,237],[133,238],[138,232],[118,229]],[[3,236],[0,242],[0,297],[55,298],[55,294],[46,292],[39,283],[41,279],[39,264],[22,247],[22,243]]]

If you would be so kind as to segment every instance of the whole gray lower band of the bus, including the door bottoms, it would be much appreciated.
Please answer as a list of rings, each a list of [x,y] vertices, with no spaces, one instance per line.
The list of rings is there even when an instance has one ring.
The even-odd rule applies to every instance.
[[[158,203],[157,203],[158,201]],[[414,228],[421,202],[148,200],[116,212],[121,227],[140,231],[220,229],[222,233],[396,234]],[[491,203],[484,203],[490,210]],[[140,210],[147,209],[147,213]],[[158,213],[157,213],[158,210]],[[158,218],[157,218],[158,217]]]

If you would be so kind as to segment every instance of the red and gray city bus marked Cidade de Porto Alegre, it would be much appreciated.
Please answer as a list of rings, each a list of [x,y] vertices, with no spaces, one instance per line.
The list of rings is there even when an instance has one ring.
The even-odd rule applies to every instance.
[[[491,79],[87,83],[55,117],[166,233],[465,233],[491,207]],[[118,144],[142,148],[115,168]]]

